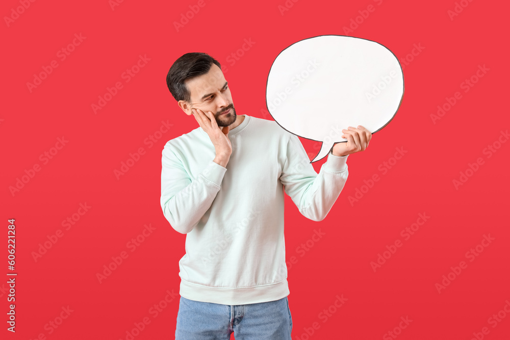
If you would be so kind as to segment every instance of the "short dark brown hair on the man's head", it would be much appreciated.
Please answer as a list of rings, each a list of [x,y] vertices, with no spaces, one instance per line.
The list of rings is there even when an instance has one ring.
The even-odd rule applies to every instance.
[[[207,53],[187,53],[177,59],[166,75],[166,85],[175,100],[191,101],[191,93],[184,83],[187,79],[209,72],[213,63],[220,63]]]

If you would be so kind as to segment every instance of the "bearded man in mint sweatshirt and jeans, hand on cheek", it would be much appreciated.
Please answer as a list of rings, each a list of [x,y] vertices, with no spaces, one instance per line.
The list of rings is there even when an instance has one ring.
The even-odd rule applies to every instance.
[[[302,215],[321,221],[347,179],[347,156],[372,135],[363,126],[342,130],[347,142],[333,146],[317,174],[297,136],[236,114],[211,56],[183,55],[167,85],[199,124],[162,152],[161,207],[186,234],[175,337],[290,340],[284,189]]]

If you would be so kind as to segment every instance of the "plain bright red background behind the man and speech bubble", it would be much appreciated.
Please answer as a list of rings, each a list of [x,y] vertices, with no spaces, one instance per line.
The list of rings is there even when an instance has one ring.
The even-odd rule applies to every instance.
[[[286,197],[287,259],[297,257],[288,276],[293,339],[384,339],[393,338],[388,332],[395,331],[399,339],[468,340],[473,333],[482,336],[483,327],[489,331],[483,338],[509,338],[510,315],[500,312],[505,317],[496,327],[489,318],[510,299],[510,143],[496,143],[500,148],[490,157],[487,151],[510,125],[506,3],[464,0],[463,8],[454,1],[301,0],[287,2],[292,7],[284,12],[278,7],[285,6],[284,0],[206,0],[203,7],[197,1],[124,1],[113,9],[107,0],[27,4],[18,16],[12,11],[22,6],[19,1],[4,1],[0,11],[0,253],[5,256],[2,271],[10,272],[7,220],[14,218],[18,273],[16,333],[3,323],[2,338],[35,339],[42,333],[48,339],[125,339],[145,317],[150,323],[137,340],[173,338],[185,235],[173,230],[161,211],[161,151],[166,141],[198,125],[170,95],[168,69],[187,52],[206,52],[227,68],[237,113],[272,119],[264,109],[273,60],[296,41],[327,34],[388,47],[401,60],[405,94],[395,118],[373,135],[369,148],[349,156],[349,178],[326,219],[304,218]],[[366,11],[369,5],[372,12]],[[174,22],[190,6],[198,12],[176,29]],[[450,18],[448,11],[455,6],[461,6],[460,13]],[[351,19],[358,20],[358,27]],[[351,24],[353,30],[345,32]],[[58,51],[75,34],[86,38],[61,60]],[[232,59],[244,39],[254,44]],[[122,73],[139,55],[150,61],[125,82]],[[30,91],[27,83],[53,60],[58,67]],[[477,79],[479,65],[489,71]],[[477,83],[465,92],[462,83],[472,76]],[[116,82],[122,89],[95,114],[92,104]],[[462,98],[434,121],[438,105],[457,91]],[[331,99],[333,106],[340,105]],[[144,141],[162,121],[173,126],[149,148]],[[68,142],[44,164],[40,155],[52,151],[62,136]],[[317,142],[301,140],[311,157],[317,153]],[[140,147],[145,154],[117,178],[114,170]],[[407,152],[395,163],[391,158],[397,147]],[[460,180],[460,172],[478,158],[483,164],[455,188],[453,180]],[[317,171],[323,162],[314,163]],[[393,162],[391,169],[384,162]],[[10,187],[34,165],[40,171],[29,180],[24,177],[27,183],[12,193]],[[363,187],[375,174],[379,181]],[[349,196],[357,190],[365,193],[351,204]],[[65,230],[62,221],[76,214],[80,203],[89,210],[74,215],[79,221]],[[405,240],[401,230],[420,213],[429,219]],[[144,224],[156,229],[132,252],[126,244]],[[326,235],[301,256],[297,247],[319,228]],[[59,229],[62,237],[35,260],[40,244]],[[494,240],[479,247],[482,252],[470,261],[466,252],[481,244],[484,234]],[[374,272],[371,261],[397,240],[403,246]],[[96,274],[122,251],[129,256],[99,283]],[[463,260],[467,268],[439,293],[436,283]],[[0,284],[2,320],[9,307],[7,278]],[[149,310],[167,290],[177,297],[154,317]],[[319,313],[334,305],[337,295],[348,300],[332,307],[324,322]],[[67,306],[70,315],[58,328],[49,328]],[[399,329],[401,317],[412,320],[404,329]]]

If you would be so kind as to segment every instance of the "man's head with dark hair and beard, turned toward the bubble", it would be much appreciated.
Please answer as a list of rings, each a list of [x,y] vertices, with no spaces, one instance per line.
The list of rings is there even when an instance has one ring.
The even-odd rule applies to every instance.
[[[177,59],[166,76],[166,84],[179,107],[187,115],[191,109],[211,111],[218,126],[236,121],[232,102],[220,63],[206,53],[187,53]],[[222,114],[230,110],[227,114]]]

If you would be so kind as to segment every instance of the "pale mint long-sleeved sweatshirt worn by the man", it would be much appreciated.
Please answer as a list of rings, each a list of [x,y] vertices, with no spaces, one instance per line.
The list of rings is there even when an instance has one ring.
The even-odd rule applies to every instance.
[[[317,174],[297,136],[244,116],[228,133],[226,168],[213,162],[201,127],[162,152],[161,207],[173,229],[186,233],[179,276],[189,300],[241,305],[289,295],[284,188],[303,216],[321,221],[347,180],[348,156],[329,152]]]

